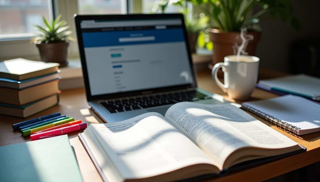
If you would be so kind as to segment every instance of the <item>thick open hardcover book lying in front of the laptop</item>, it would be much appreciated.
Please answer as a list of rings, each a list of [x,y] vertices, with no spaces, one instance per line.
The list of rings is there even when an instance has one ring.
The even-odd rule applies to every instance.
[[[104,181],[175,181],[305,148],[230,104],[180,102],[159,113],[90,124],[79,138]],[[256,159],[256,160],[254,160]]]

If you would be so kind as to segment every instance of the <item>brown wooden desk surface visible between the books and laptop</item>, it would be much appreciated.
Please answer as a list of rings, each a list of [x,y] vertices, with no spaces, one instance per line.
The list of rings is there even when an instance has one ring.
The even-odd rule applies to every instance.
[[[260,78],[266,78],[269,74],[264,74],[263,72],[260,72],[259,75]],[[279,73],[276,73],[275,75],[282,76]],[[199,88],[223,95],[229,101],[241,103],[241,101],[235,101],[228,98],[228,96],[225,93],[223,93],[222,90],[214,83],[213,79],[211,78],[211,73],[209,71],[199,72],[197,76]],[[277,97],[277,95],[259,89],[255,89],[250,100],[267,99],[273,97]],[[69,117],[80,119],[88,124],[103,123],[103,121],[95,113],[93,113],[92,110],[89,109],[89,106],[86,102],[84,89],[62,91],[60,96],[60,104],[58,106],[52,107],[44,112],[38,113],[35,116],[32,116],[31,118],[39,117],[41,115],[54,112],[60,112],[61,114],[65,114]],[[263,165],[258,165],[256,167],[251,167],[243,171],[238,171],[222,178],[212,178],[207,179],[206,181],[236,181],[239,179],[242,179],[240,181],[262,181],[320,161],[320,132],[297,137],[288,134],[282,129],[277,128],[274,125],[271,125],[270,123],[268,123],[265,120],[262,120],[259,117],[254,117],[260,120],[261,122],[267,124],[268,126],[272,127],[276,131],[288,136],[295,142],[298,142],[299,144],[305,146],[307,148],[307,151],[292,157],[286,157],[281,160],[277,160]],[[12,124],[21,122],[23,120],[24,119],[0,115],[0,146],[29,141],[28,137],[22,137],[19,132],[12,131]],[[85,182],[101,182],[102,179],[98,171],[94,167],[88,154],[84,150],[81,142],[77,138],[77,134],[80,132],[83,131],[73,132],[68,134],[68,136],[70,139],[70,143],[74,149],[82,177]]]

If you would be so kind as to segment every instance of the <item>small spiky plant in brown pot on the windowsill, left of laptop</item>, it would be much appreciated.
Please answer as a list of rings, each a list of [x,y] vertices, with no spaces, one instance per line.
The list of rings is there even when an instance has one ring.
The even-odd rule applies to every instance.
[[[37,37],[30,40],[30,43],[36,44],[39,49],[41,61],[43,62],[57,62],[60,63],[60,67],[68,65],[67,53],[69,41],[75,40],[70,34],[69,26],[67,22],[59,21],[61,15],[49,24],[43,17],[45,26],[36,25]]]

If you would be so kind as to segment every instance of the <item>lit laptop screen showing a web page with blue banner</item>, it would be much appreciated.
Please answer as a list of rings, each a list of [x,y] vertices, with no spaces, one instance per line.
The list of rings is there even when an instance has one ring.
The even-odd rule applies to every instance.
[[[180,18],[82,20],[91,95],[191,84]]]

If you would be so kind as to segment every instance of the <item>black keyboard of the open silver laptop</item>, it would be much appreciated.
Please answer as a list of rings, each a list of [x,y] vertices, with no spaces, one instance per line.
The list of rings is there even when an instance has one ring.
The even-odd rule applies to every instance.
[[[198,91],[182,91],[169,94],[140,96],[100,102],[110,113],[120,113],[136,109],[164,106],[177,102],[211,99]]]

